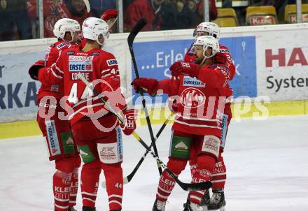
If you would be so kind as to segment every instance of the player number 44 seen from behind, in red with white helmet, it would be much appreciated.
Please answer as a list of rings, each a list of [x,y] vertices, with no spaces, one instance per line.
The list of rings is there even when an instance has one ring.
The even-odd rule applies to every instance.
[[[43,83],[64,82],[67,117],[73,136],[85,163],[81,171],[83,211],[95,210],[99,174],[104,171],[109,210],[122,209],[123,197],[123,145],[120,127],[126,135],[136,128],[136,112],[125,110],[126,103],[120,93],[118,62],[113,54],[101,50],[109,37],[109,27],[96,17],[83,22],[84,47],[64,50],[50,68],[41,68],[38,79]],[[118,126],[115,115],[105,108],[101,94],[94,95],[78,78],[78,73],[92,83],[92,87],[114,110],[121,112],[126,124]]]

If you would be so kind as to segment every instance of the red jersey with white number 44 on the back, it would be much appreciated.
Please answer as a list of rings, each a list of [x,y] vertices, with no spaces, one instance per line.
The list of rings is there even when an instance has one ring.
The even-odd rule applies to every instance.
[[[71,124],[84,116],[98,115],[100,111],[101,116],[109,118],[106,122],[113,125],[116,116],[104,108],[100,99],[102,96],[93,95],[92,90],[79,80],[78,73],[91,82],[114,109],[125,109],[125,99],[120,93],[118,61],[113,54],[104,50],[82,52],[80,46],[64,50],[55,64],[39,71],[38,80],[43,84],[64,83],[65,110]]]

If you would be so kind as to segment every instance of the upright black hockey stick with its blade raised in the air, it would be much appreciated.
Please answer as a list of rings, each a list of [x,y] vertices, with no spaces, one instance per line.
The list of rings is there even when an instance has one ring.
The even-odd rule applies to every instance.
[[[137,36],[139,31],[141,31],[141,29],[144,28],[144,26],[146,26],[146,24],[147,24],[147,21],[145,19],[141,18],[137,22],[137,24],[134,26],[134,28],[130,32],[130,35],[127,38],[128,47],[130,48],[130,54],[132,55],[132,64],[134,65],[134,72],[135,72],[136,78],[139,78],[139,72],[138,72],[138,68],[137,68],[137,62],[136,62],[136,59],[134,57],[134,49],[132,48],[132,44],[134,43],[134,38]],[[146,108],[146,99],[144,99],[144,91],[143,91],[143,89],[139,88],[138,92],[141,96],[141,101],[142,101],[142,106],[144,107],[144,112],[146,113],[146,123],[148,124],[148,131],[150,132],[153,150],[154,150],[155,154],[158,156],[158,148],[156,147],[156,144],[155,144],[155,138],[154,138],[154,134],[153,134],[152,124],[151,124],[150,117],[148,116],[148,109]],[[162,175],[162,167],[160,166],[160,163],[158,163],[158,171],[159,171],[160,175]]]

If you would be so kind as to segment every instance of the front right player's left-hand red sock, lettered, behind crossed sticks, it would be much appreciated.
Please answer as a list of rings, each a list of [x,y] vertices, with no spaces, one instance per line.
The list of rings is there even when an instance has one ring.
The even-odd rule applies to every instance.
[[[171,170],[176,176],[178,176],[182,170],[184,170],[187,161],[184,159],[173,159],[170,158],[167,167]],[[156,198],[159,201],[167,201],[170,196],[172,190],[174,189],[176,182],[174,178],[172,178],[166,170],[162,172],[160,176],[160,182],[158,183],[158,193],[156,194]]]

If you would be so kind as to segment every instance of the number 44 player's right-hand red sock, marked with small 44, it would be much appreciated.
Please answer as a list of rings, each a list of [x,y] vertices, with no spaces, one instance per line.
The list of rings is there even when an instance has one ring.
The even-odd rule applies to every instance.
[[[106,178],[109,210],[122,209],[123,196],[123,170],[121,163],[101,163]]]

